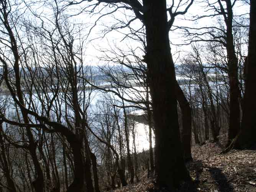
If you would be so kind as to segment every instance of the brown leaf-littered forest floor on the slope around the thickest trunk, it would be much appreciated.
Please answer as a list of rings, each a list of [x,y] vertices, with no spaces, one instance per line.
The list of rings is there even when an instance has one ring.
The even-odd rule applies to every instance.
[[[220,142],[207,142],[192,147],[194,161],[187,163],[197,192],[256,192],[256,151],[232,150],[219,155],[225,135]],[[110,192],[153,192],[154,179],[145,176],[135,184]],[[185,191],[184,189],[182,191]]]

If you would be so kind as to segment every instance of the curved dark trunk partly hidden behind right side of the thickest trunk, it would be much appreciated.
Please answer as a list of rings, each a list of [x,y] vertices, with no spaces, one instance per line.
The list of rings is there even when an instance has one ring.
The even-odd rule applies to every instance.
[[[184,150],[184,160],[191,161],[191,108],[177,81],[175,83],[175,92],[182,112],[181,141]]]

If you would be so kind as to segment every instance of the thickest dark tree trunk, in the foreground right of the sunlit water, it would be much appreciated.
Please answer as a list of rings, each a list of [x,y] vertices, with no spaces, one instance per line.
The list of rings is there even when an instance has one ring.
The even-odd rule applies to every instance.
[[[147,40],[145,59],[156,130],[157,182],[160,187],[174,190],[190,176],[181,146],[166,1],[143,0],[143,5]]]

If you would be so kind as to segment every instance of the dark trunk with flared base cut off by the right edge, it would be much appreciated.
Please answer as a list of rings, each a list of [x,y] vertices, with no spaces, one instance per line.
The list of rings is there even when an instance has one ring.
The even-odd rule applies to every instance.
[[[248,149],[256,145],[256,1],[251,0],[250,3],[248,69],[243,99],[242,130],[235,141],[236,149]]]

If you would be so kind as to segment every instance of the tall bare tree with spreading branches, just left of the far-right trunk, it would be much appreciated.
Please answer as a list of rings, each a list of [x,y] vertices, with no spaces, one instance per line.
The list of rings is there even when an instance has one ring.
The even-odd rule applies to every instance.
[[[205,0],[201,3],[202,6],[205,7],[207,14],[194,16],[192,20],[198,21],[200,19],[213,17],[217,18],[217,25],[210,27],[203,26],[200,28],[188,27],[183,29],[186,31],[185,33],[188,35],[189,42],[205,41],[217,43],[218,46],[222,47],[225,50],[225,55],[223,59],[226,59],[230,89],[230,114],[228,131],[228,143],[230,143],[230,141],[233,138],[235,138],[238,131],[240,130],[241,90],[240,83],[238,80],[238,55],[236,54],[237,42],[234,41],[234,23],[236,22],[235,18],[241,18],[243,17],[243,15],[237,16],[233,13],[236,4],[239,4],[239,1],[237,0]],[[246,26],[240,25],[239,27],[243,28]]]

